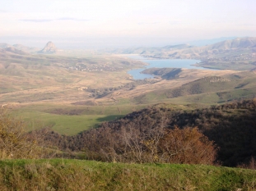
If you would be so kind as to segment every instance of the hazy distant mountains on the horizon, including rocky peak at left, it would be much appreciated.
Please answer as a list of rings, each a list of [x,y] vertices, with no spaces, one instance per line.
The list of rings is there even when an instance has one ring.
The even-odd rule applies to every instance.
[[[21,44],[10,45],[0,43],[2,51],[13,52],[16,54],[41,53],[53,54],[58,52],[58,49],[53,42],[49,42],[43,49],[30,48]],[[226,52],[240,52],[241,49],[246,49],[249,52],[256,52],[256,38],[237,38],[228,39],[219,43],[213,43],[207,46],[195,47],[187,43],[170,45],[161,48],[117,48],[104,49],[101,52],[122,53],[122,54],[141,54],[144,57],[156,58],[198,58],[208,57]]]

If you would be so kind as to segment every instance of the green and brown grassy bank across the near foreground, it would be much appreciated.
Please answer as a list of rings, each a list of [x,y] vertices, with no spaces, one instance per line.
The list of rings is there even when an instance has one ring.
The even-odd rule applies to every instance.
[[[0,161],[1,190],[255,190],[256,171],[77,160]]]

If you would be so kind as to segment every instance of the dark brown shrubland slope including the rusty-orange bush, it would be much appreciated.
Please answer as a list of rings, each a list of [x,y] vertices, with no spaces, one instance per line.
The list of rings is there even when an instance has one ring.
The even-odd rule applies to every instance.
[[[255,99],[192,110],[161,104],[104,122],[98,128],[74,136],[52,130],[47,133],[41,130],[41,134],[47,134],[44,142],[51,146],[68,152],[84,151],[88,159],[100,161],[173,160],[238,166],[249,163],[251,157],[256,156],[255,108]],[[189,159],[175,154],[176,151],[180,156],[186,153]],[[202,157],[199,157],[201,152]],[[195,161],[189,161],[192,158]]]

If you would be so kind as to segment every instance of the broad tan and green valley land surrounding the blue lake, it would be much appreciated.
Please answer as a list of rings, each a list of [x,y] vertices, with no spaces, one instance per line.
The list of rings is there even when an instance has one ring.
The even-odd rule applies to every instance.
[[[180,106],[197,103],[207,107],[254,98],[256,58],[254,44],[248,43],[254,43],[254,39],[239,42],[232,46],[233,43],[227,41],[203,48],[181,45],[160,48],[158,52],[168,49],[185,58],[188,58],[187,52],[198,52],[193,57],[201,60],[197,66],[228,70],[151,68],[142,72],[155,78],[146,80],[133,80],[128,75],[128,70],[142,68],[147,63],[127,55],[89,50],[36,54],[33,52],[36,48],[2,43],[0,104],[12,108],[18,117],[25,117],[27,121],[40,121],[41,126],[50,126],[61,134],[77,134],[99,124],[98,119],[108,121],[114,119],[113,116],[123,116],[161,102]],[[206,49],[207,54],[200,53]],[[216,49],[218,51],[214,51]],[[129,53],[166,58],[154,48],[150,52],[146,50],[141,49],[141,53],[129,50]],[[252,53],[244,54],[244,51]],[[72,128],[58,120],[62,116],[69,117]],[[84,119],[82,124],[77,117]]]

